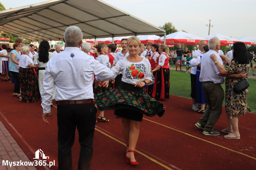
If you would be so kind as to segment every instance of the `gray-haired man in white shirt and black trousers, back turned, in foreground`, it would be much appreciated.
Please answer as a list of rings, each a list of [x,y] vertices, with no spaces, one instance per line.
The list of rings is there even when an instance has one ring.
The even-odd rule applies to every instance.
[[[52,120],[50,105],[56,87],[59,169],[72,169],[71,148],[76,127],[81,145],[78,169],[90,169],[97,112],[92,102],[92,78],[96,75],[106,81],[113,77],[109,68],[79,50],[82,37],[80,28],[68,27],[63,37],[65,51],[52,57],[45,67],[42,119],[47,124],[48,117]]]

